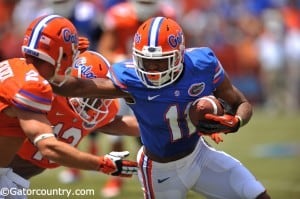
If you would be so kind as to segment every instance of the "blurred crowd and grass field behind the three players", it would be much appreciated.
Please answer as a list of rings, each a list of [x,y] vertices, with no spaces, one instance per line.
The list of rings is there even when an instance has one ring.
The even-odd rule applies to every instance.
[[[300,0],[0,0],[0,60],[21,57],[26,27],[49,13],[68,17],[90,39],[90,49],[111,63],[131,56],[133,34],[146,18],[177,20],[186,47],[212,48],[255,107],[252,121],[216,148],[241,160],[273,198],[300,198]],[[133,138],[93,136],[80,147],[104,154],[116,142],[134,159],[139,143]],[[63,181],[63,170],[34,177],[32,188],[93,187],[93,198],[142,198],[137,179],[124,180],[109,196],[100,191],[106,176],[82,172]]]

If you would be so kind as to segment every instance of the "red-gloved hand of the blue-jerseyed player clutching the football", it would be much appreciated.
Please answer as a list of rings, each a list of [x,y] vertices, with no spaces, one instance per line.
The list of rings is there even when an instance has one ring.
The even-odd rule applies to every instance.
[[[233,133],[240,128],[240,117],[236,115],[205,114],[205,118],[210,122],[200,122],[197,125],[198,131],[202,134]]]

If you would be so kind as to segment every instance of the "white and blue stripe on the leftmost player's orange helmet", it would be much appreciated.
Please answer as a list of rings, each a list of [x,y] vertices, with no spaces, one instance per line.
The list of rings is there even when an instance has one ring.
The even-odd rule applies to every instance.
[[[61,16],[49,15],[49,16],[43,18],[41,21],[39,21],[35,25],[35,27],[33,27],[33,29],[32,29],[28,47],[36,48],[37,44],[40,40],[40,37],[41,37],[41,32],[46,27],[46,24],[49,23],[50,21],[52,21],[54,18],[58,18],[58,17],[61,17]]]

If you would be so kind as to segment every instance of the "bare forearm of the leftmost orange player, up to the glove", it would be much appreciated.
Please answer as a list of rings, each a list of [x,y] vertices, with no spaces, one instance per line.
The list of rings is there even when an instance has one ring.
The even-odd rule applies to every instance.
[[[64,143],[55,138],[48,138],[37,144],[44,158],[54,161],[62,166],[78,168],[83,170],[98,170],[99,157]]]

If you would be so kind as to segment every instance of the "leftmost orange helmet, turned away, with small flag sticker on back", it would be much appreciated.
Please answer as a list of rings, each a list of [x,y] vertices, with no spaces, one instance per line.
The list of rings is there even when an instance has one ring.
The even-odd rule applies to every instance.
[[[59,15],[46,15],[33,20],[26,30],[22,52],[51,63],[51,83],[61,86],[71,73],[78,55],[78,34],[74,25]]]

